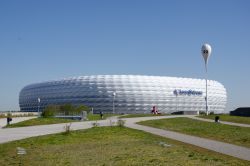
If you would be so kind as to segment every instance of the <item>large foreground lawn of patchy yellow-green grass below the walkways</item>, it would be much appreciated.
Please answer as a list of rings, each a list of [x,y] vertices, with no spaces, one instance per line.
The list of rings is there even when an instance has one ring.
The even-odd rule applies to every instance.
[[[25,148],[27,154],[18,156],[17,147]],[[0,144],[0,156],[1,166],[250,165],[248,161],[125,127],[94,127]]]

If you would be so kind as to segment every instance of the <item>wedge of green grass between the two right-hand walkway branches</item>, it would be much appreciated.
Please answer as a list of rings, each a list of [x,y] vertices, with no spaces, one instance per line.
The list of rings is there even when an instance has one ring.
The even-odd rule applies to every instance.
[[[138,124],[250,147],[250,128],[204,122],[190,118],[150,120]]]

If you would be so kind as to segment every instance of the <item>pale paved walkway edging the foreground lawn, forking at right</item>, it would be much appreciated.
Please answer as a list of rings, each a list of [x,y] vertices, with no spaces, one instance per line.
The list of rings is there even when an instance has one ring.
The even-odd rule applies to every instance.
[[[228,143],[223,143],[219,141],[209,140],[205,138],[185,135],[173,131],[167,131],[162,129],[156,129],[152,127],[142,126],[135,124],[139,121],[153,120],[153,119],[163,119],[163,118],[175,118],[175,117],[193,117],[192,115],[176,115],[176,116],[156,116],[156,117],[140,117],[140,118],[124,118],[126,120],[125,125],[129,128],[143,130],[155,135],[163,136],[166,138],[178,140],[184,143],[192,144],[199,146],[205,149],[216,151],[222,154],[234,156],[243,160],[250,161],[250,149],[236,146]],[[112,121],[116,119],[111,118],[107,120],[98,121],[100,126],[110,126]],[[92,123],[96,121],[87,121],[87,122],[74,122],[71,125],[71,130],[87,129],[93,126]],[[34,137],[39,135],[47,135],[53,133],[60,133],[65,131],[64,127],[68,123],[63,124],[52,124],[52,125],[40,125],[40,126],[31,126],[31,127],[21,127],[21,128],[9,128],[0,130],[0,143],[6,143],[9,141],[24,139],[28,137]]]

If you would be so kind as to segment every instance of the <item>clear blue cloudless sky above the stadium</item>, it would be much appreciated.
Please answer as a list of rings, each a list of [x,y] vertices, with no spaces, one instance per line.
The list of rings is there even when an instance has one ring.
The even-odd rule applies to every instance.
[[[224,84],[227,110],[250,106],[250,1],[2,0],[0,110],[27,84],[91,74],[204,78]]]

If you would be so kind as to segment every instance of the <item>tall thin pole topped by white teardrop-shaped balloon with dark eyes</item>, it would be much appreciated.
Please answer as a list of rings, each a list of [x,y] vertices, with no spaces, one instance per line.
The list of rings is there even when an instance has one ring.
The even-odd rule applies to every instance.
[[[208,102],[208,97],[207,97],[207,62],[208,62],[208,59],[209,59],[209,56],[211,55],[211,52],[212,52],[212,48],[209,44],[203,44],[202,47],[201,47],[201,54],[205,60],[205,68],[206,68],[206,98],[205,98],[205,101],[206,101],[206,114],[208,115],[208,105],[207,105],[207,102]]]

